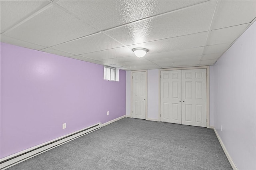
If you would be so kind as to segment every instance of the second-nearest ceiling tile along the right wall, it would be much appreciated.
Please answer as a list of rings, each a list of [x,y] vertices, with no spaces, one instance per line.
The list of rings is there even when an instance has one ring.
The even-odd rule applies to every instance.
[[[234,42],[242,34],[249,24],[212,30],[208,39],[208,45]]]

